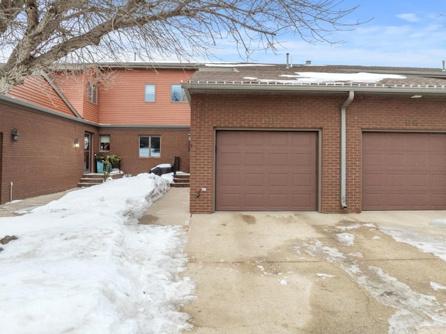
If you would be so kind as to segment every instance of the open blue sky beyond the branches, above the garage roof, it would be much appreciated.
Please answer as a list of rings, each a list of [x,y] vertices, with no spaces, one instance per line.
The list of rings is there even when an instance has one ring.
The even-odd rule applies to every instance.
[[[277,56],[258,51],[249,61],[284,63],[286,52],[293,63],[324,65],[378,65],[401,67],[443,67],[446,60],[446,6],[444,0],[344,0],[340,8],[360,6],[346,17],[349,23],[366,22],[353,31],[334,33],[330,45],[304,42],[299,36],[284,36],[286,48]],[[231,50],[234,53],[231,53]],[[235,48],[217,51],[224,61],[247,61]]]

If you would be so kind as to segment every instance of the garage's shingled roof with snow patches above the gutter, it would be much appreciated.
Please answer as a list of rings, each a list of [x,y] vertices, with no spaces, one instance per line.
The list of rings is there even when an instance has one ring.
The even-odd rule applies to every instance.
[[[405,91],[410,88],[423,91],[426,88],[431,88],[438,90],[438,93],[441,94],[446,90],[446,73],[440,69],[344,65],[286,67],[284,65],[272,64],[229,63],[208,65],[208,67],[204,67],[204,70],[201,69],[195,72],[190,81],[188,81],[188,84],[193,84],[196,89],[218,90],[220,87],[226,86],[224,89],[236,90],[254,88],[263,90],[282,88],[295,90],[346,90],[356,87],[366,90],[380,89],[380,91],[392,89],[395,92],[394,88],[404,89]],[[229,88],[229,86],[232,88]],[[187,87],[187,84],[185,84],[185,88],[190,87]]]

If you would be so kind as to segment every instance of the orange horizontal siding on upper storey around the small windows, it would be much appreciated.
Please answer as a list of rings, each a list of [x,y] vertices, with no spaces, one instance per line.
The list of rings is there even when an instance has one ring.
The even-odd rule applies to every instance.
[[[99,122],[128,125],[190,125],[187,102],[171,102],[171,85],[192,70],[117,70],[114,82],[98,93]],[[144,102],[146,84],[156,85],[155,102]]]

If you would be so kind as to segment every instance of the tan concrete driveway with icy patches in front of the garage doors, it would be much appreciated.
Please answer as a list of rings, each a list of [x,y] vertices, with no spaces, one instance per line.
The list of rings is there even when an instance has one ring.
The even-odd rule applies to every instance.
[[[198,298],[183,307],[187,333],[446,333],[446,262],[382,231],[441,244],[446,227],[431,222],[445,218],[194,214],[183,275]]]

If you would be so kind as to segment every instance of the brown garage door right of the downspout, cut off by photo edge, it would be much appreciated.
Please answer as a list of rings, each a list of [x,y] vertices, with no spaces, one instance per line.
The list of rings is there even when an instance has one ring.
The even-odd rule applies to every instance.
[[[362,209],[446,209],[446,134],[364,132]]]

